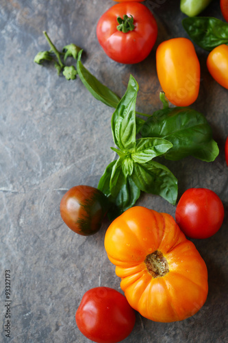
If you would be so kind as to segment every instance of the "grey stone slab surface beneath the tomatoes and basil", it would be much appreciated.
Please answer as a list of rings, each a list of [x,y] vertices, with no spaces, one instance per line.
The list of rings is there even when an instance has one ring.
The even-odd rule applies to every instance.
[[[154,8],[159,27],[150,56],[137,65],[121,65],[103,53],[96,25],[111,0],[1,0],[0,2],[0,218],[1,342],[86,343],[75,311],[86,290],[99,285],[121,291],[114,265],[103,248],[107,220],[99,233],[82,237],[62,222],[59,204],[74,185],[97,183],[110,150],[112,109],[97,102],[79,78],[67,82],[53,67],[34,64],[48,49],[43,30],[57,47],[75,43],[86,51],[86,67],[118,95],[132,73],[140,86],[138,110],[160,108],[155,49],[162,40],[186,36],[179,1],[145,1]],[[222,19],[219,1],[205,15]],[[207,72],[207,53],[196,47],[201,62],[199,99],[192,105],[210,122],[220,154],[213,163],[194,158],[166,165],[179,179],[179,196],[190,187],[215,191],[225,205],[225,222],[209,239],[194,240],[207,264],[209,294],[192,318],[170,324],[137,314],[126,343],[223,343],[227,331],[227,185],[225,164],[227,90]],[[162,198],[142,195],[138,204],[175,215]],[[5,338],[5,270],[11,270],[12,329]]]

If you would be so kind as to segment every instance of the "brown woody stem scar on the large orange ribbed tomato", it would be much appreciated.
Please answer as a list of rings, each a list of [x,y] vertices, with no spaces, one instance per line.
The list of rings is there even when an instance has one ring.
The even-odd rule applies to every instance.
[[[144,263],[147,266],[148,272],[153,276],[154,279],[165,276],[169,272],[168,262],[163,256],[162,252],[159,250],[147,255]]]

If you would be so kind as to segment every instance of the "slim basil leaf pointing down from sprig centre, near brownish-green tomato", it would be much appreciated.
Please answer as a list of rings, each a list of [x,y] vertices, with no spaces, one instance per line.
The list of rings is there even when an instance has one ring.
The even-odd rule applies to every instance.
[[[110,178],[110,192],[112,196],[117,196],[123,184],[125,184],[125,175],[123,174],[123,158],[118,158],[112,167],[112,175]]]

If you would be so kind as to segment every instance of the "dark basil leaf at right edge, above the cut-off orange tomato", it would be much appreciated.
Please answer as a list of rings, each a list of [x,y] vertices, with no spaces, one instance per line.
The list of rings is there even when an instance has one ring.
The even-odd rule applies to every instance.
[[[228,45],[228,23],[210,16],[185,18],[183,28],[190,38],[207,51],[212,51],[221,44]]]

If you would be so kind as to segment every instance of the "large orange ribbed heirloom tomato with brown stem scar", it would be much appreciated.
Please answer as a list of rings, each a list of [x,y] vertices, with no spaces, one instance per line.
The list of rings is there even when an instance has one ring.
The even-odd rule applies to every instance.
[[[155,322],[183,320],[207,298],[207,267],[173,217],[135,206],[107,228],[107,256],[129,305]]]

